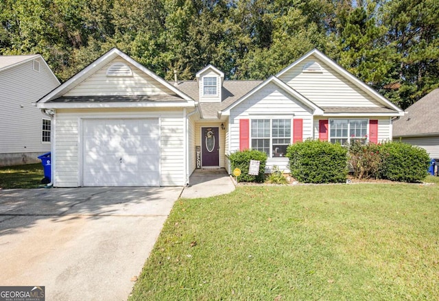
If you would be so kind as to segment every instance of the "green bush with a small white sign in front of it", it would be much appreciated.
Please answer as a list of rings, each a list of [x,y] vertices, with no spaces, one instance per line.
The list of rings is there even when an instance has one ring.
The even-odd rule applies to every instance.
[[[267,162],[267,154],[254,149],[246,149],[244,151],[234,152],[228,157],[232,171],[235,168],[241,169],[241,176],[238,177],[239,182],[263,182],[265,174],[265,162]],[[248,174],[250,160],[260,161],[259,175],[252,176]]]

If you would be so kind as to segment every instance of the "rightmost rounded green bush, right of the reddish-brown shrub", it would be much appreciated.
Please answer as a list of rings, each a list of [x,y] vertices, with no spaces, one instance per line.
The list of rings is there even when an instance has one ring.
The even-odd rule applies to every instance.
[[[380,147],[381,178],[399,182],[420,182],[427,176],[429,155],[425,149],[397,141]]]

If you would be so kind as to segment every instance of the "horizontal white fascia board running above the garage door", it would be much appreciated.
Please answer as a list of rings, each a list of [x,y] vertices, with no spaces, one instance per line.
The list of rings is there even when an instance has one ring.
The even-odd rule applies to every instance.
[[[195,108],[195,101],[163,101],[163,102],[153,102],[153,101],[143,101],[143,102],[133,102],[127,104],[126,102],[102,102],[102,103],[86,103],[78,102],[73,103],[63,103],[63,102],[49,102],[36,104],[37,108],[40,109],[77,109],[77,108]]]

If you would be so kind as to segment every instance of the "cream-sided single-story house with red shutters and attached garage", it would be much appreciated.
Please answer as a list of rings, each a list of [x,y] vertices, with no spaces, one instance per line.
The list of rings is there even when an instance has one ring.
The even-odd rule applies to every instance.
[[[112,49],[38,101],[54,112],[55,186],[182,186],[239,149],[287,170],[287,145],[392,139],[403,110],[313,50],[265,81],[209,65],[167,82]]]

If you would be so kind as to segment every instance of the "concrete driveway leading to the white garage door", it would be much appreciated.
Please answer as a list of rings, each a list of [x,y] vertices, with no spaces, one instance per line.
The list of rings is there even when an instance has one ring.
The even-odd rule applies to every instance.
[[[182,187],[0,191],[0,285],[126,300]]]

